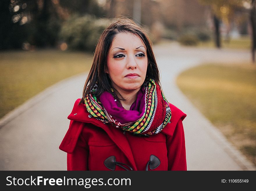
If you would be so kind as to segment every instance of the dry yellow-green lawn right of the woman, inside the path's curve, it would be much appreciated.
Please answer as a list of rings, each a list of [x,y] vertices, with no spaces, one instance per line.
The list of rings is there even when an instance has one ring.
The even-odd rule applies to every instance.
[[[200,111],[256,164],[256,65],[205,64],[177,84]]]

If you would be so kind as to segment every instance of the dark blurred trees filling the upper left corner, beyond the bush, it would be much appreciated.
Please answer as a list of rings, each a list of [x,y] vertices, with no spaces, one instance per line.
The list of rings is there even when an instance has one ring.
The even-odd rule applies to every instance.
[[[24,42],[55,47],[61,25],[71,13],[102,16],[97,0],[0,1],[0,49],[21,48]]]

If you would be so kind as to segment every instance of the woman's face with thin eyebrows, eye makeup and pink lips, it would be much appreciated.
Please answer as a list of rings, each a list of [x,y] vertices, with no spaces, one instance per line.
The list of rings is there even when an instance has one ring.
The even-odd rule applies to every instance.
[[[147,72],[147,51],[141,38],[118,33],[109,49],[105,72],[118,92],[140,89]]]

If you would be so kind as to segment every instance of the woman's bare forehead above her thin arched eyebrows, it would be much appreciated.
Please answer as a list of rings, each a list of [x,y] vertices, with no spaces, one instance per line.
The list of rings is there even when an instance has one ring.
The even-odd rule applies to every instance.
[[[143,45],[145,46],[144,42],[141,40],[141,38],[138,35],[135,35],[133,33],[118,33],[113,38],[113,41],[111,43],[111,47],[114,46],[122,46],[120,48],[126,47],[139,47]]]

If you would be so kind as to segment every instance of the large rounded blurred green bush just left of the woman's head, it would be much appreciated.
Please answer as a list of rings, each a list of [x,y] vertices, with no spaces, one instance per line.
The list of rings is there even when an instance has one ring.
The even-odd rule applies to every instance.
[[[94,51],[97,40],[108,23],[108,19],[73,15],[63,23],[59,38],[67,43],[69,49]]]

